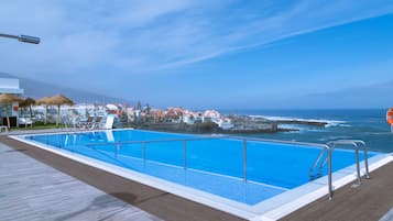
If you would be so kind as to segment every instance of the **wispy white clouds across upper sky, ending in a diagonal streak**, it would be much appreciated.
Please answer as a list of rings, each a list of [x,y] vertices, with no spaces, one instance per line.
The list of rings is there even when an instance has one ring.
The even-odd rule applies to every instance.
[[[42,78],[86,70],[146,73],[392,12],[386,0],[9,0],[0,7],[1,32],[39,35],[43,42],[35,47],[1,40],[0,59],[2,70]]]

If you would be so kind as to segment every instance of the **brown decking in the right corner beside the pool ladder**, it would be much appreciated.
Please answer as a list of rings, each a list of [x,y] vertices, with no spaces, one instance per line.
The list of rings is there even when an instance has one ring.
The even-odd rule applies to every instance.
[[[332,200],[320,198],[281,221],[378,221],[392,207],[393,163],[390,163],[371,173],[371,179],[362,179],[361,186],[347,185],[335,192]],[[387,214],[384,221],[387,220],[393,220],[393,214]]]

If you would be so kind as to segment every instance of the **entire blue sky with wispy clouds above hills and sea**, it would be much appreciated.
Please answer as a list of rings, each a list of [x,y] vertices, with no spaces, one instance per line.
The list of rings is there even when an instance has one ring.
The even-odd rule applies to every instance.
[[[0,31],[42,44],[0,40],[0,71],[155,107],[385,108],[392,24],[387,0],[6,0]]]

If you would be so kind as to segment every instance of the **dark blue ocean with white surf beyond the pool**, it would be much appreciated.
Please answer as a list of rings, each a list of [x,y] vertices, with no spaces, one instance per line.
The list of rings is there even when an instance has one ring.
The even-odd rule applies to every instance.
[[[220,112],[225,114],[260,115],[272,120],[313,120],[328,123],[325,128],[288,124],[281,128],[297,129],[298,131],[275,134],[248,134],[247,136],[310,143],[356,139],[364,141],[371,151],[393,152],[393,133],[391,133],[390,125],[386,123],[386,109],[222,110]]]

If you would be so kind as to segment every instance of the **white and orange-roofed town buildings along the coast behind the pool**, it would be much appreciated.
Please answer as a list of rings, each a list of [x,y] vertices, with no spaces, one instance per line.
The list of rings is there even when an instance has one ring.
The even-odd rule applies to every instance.
[[[12,93],[21,97],[23,92],[23,89],[20,88],[19,79],[0,78],[0,93]],[[76,103],[74,106],[63,106],[61,109],[61,123],[66,124],[67,122],[72,122],[72,124],[77,124],[77,122],[86,122],[97,117],[105,119],[110,109],[108,107],[112,106],[116,107],[116,111],[112,113],[122,123],[120,126],[130,126],[134,125],[134,123],[184,123],[193,125],[214,122],[223,130],[233,128],[231,119],[220,114],[217,110],[192,111],[182,107],[168,107],[161,110],[151,108],[150,106],[140,108],[139,106],[129,107],[120,103]],[[4,108],[0,109],[0,124],[2,123],[2,118],[6,118],[4,110]],[[44,122],[45,119],[47,122],[54,123],[57,118],[57,109],[54,106],[32,106],[32,118],[30,112],[29,114],[23,113],[26,113],[26,111],[20,109],[18,102],[9,106],[8,110],[13,122],[11,126],[18,126],[18,122],[23,119],[31,120],[31,124],[33,124],[35,122]]]

